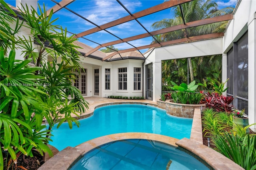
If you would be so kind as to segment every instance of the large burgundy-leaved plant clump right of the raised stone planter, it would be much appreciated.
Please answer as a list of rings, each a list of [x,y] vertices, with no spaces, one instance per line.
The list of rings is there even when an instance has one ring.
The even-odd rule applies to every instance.
[[[231,113],[234,106],[231,104],[233,101],[232,96],[223,96],[218,93],[207,93],[205,103],[207,108],[213,108],[217,112]]]

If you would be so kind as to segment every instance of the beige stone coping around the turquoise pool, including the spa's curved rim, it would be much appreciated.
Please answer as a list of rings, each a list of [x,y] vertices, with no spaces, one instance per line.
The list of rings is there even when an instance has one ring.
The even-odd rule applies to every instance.
[[[109,101],[108,101],[109,102]],[[110,103],[98,103],[89,113],[84,115],[84,117],[89,117],[93,115],[94,109],[104,106],[104,105],[113,105],[113,104],[143,104],[151,105],[158,107],[158,105],[152,102],[143,102],[143,101],[116,101]],[[84,142],[76,147],[66,147],[64,150],[61,150],[48,161],[46,161],[38,170],[68,170],[70,165],[73,165],[73,162],[76,162],[78,158],[84,155],[86,152],[96,148],[102,144],[108,142],[122,140],[122,139],[148,139],[148,140],[157,140],[170,144],[174,147],[184,148],[196,156],[202,158],[207,164],[209,164],[215,170],[243,170],[238,164],[234,163],[232,160],[226,158],[224,155],[216,152],[212,148],[209,148],[203,145],[202,139],[202,124],[201,124],[201,110],[194,110],[194,117],[191,129],[190,139],[183,138],[181,140],[172,138],[169,136],[164,136],[161,134],[152,134],[152,133],[139,133],[139,132],[127,132],[127,133],[117,133],[110,134],[106,136],[101,136],[94,138],[87,142]]]

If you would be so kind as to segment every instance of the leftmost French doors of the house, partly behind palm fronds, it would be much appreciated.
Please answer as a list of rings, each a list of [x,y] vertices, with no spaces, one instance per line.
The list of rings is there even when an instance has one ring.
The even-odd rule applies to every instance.
[[[80,75],[78,74],[78,70],[75,73],[74,87],[78,88],[82,95],[86,95],[86,69],[80,69]]]

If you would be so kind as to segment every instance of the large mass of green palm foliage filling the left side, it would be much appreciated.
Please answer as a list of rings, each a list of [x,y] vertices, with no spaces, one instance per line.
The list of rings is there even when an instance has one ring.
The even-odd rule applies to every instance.
[[[79,122],[72,118],[72,113],[80,116],[88,108],[88,103],[80,91],[72,86],[75,79],[73,70],[81,66],[76,50],[76,39],[67,36],[67,31],[54,25],[53,12],[46,14],[46,8],[28,10],[26,6],[16,16],[12,9],[1,2],[0,24],[0,169],[3,169],[3,154],[7,150],[11,156],[6,160],[6,168],[12,163],[17,166],[17,157],[22,154],[33,156],[31,150],[40,154],[52,153],[46,145],[50,140],[50,128],[58,123],[57,128],[67,121],[70,128]],[[30,12],[32,14],[30,14]],[[2,20],[3,18],[3,20]],[[13,28],[10,23],[16,24]],[[17,35],[21,29],[31,30],[31,37]],[[57,30],[56,30],[57,29]],[[37,44],[37,45],[34,45]],[[15,59],[15,49],[22,50],[24,61]],[[8,57],[6,56],[9,53]],[[60,58],[60,63],[57,59]],[[49,59],[49,61],[48,61]],[[33,62],[36,67],[28,67]],[[40,67],[38,67],[40,66]],[[71,98],[70,98],[71,97]],[[46,119],[49,129],[42,125]]]

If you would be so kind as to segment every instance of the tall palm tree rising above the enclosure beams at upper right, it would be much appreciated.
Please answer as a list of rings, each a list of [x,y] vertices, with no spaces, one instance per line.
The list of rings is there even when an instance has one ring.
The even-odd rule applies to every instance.
[[[192,22],[196,20],[202,20],[206,18],[212,18],[216,16],[221,16],[224,14],[232,13],[234,8],[227,7],[218,10],[218,4],[212,0],[194,0],[181,4],[180,6],[175,6],[172,8],[174,12],[174,19],[164,19],[152,24],[154,29],[163,29],[171,26],[176,26],[184,24],[187,22]],[[183,21],[184,18],[184,21]],[[213,24],[207,24],[204,26],[198,26],[195,28],[187,28],[182,30],[177,30],[174,32],[169,32],[161,35],[157,35],[155,38],[160,41],[170,41],[181,38],[186,38],[188,36],[198,36],[202,34],[210,34],[216,32],[223,32],[226,28],[227,21],[217,22]],[[192,59],[188,58],[189,70],[190,70],[190,81],[194,80]]]

